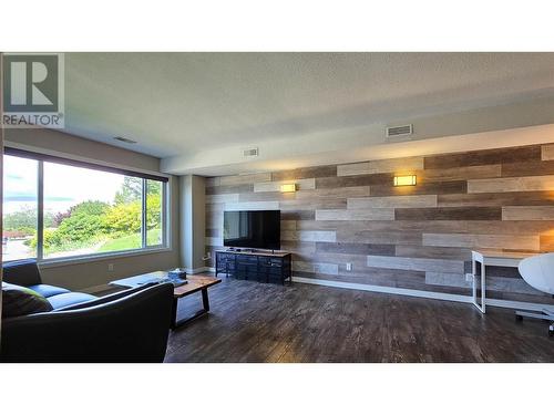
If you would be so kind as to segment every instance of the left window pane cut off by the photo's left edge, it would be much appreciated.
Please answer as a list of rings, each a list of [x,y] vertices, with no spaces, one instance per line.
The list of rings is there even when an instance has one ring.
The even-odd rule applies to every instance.
[[[2,257],[4,261],[35,258],[33,239],[38,229],[39,163],[32,159],[3,158]]]

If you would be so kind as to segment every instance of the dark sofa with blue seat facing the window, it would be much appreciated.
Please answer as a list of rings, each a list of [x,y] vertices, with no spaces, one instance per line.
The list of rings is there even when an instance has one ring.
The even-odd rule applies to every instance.
[[[6,264],[3,279],[40,292],[54,310],[2,319],[2,362],[163,362],[173,284],[96,298],[43,284],[33,261]]]

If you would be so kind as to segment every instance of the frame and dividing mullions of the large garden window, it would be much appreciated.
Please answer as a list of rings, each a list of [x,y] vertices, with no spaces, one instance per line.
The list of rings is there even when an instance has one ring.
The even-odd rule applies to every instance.
[[[21,152],[20,155],[19,153]],[[38,200],[37,200],[37,257],[30,257],[35,259],[44,268],[55,267],[57,264],[70,264],[70,263],[81,263],[102,259],[117,258],[117,257],[132,257],[145,253],[165,252],[172,249],[171,247],[171,183],[172,178],[168,175],[163,175],[160,173],[152,174],[150,172],[133,172],[130,169],[121,169],[110,165],[102,165],[92,162],[81,162],[76,159],[50,156],[35,152],[21,151],[17,147],[4,147],[4,155],[10,155],[20,158],[34,159],[38,163],[37,167],[37,189],[38,189]],[[27,154],[27,155],[25,155]],[[33,155],[37,155],[34,157]],[[55,258],[44,258],[43,252],[43,235],[44,235],[44,162],[88,168],[91,170],[101,170],[121,174],[123,176],[138,177],[142,179],[142,215],[141,215],[141,248],[124,249],[110,252],[98,252],[98,253],[86,253],[86,255],[75,255],[68,257],[55,257]],[[65,163],[64,163],[65,162]],[[162,243],[158,245],[147,245],[147,229],[146,229],[146,183],[147,180],[156,180],[162,185]],[[18,260],[2,261],[3,263],[9,263]]]

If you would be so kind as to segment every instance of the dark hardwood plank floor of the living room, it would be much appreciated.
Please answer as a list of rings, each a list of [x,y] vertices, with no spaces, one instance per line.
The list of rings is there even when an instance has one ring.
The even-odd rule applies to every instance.
[[[183,299],[179,313],[201,299]],[[228,279],[209,315],[170,335],[166,362],[554,362],[547,324],[513,310]]]

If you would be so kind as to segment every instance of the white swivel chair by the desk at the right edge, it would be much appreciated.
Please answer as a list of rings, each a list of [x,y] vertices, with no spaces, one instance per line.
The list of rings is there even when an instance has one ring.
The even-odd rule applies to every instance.
[[[554,253],[543,253],[525,258],[520,262],[520,273],[534,289],[554,295]],[[554,335],[554,307],[543,309],[542,312],[516,311],[515,318],[521,321],[524,317],[550,321],[548,334]]]

